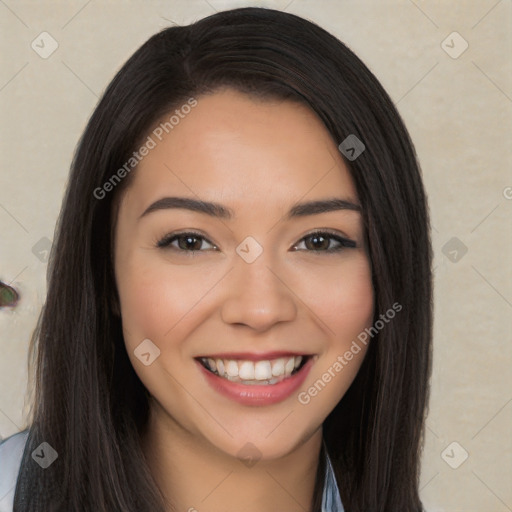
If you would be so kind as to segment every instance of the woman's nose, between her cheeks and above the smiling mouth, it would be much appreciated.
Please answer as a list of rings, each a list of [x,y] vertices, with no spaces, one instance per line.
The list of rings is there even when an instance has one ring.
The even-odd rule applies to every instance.
[[[266,331],[279,322],[292,321],[297,315],[293,291],[265,252],[253,263],[235,259],[235,268],[227,277],[227,296],[221,317],[228,324],[246,325]]]

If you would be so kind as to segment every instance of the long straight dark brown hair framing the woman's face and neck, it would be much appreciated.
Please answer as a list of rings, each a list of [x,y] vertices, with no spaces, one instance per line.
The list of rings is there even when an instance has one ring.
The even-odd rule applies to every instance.
[[[394,303],[403,309],[374,336],[324,422],[324,441],[347,512],[422,510],[432,254],[414,146],[387,93],[345,44],[295,15],[243,8],[151,37],[109,84],[79,142],[31,340],[35,396],[16,512],[164,511],[139,442],[148,394],[113,312],[114,201],[130,179],[104,197],[97,191],[162,115],[219,87],[300,101],[337,145],[350,134],[365,144],[345,160],[363,209],[375,318]],[[45,470],[31,460],[43,441],[59,455]]]

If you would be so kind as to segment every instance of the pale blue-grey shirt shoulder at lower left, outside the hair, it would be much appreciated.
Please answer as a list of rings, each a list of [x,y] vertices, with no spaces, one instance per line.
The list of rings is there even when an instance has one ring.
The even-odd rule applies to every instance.
[[[14,490],[28,430],[0,441],[0,512],[12,512]]]

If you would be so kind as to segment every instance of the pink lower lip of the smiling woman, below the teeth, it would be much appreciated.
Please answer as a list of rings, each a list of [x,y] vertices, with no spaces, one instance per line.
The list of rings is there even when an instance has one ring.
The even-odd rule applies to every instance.
[[[272,405],[286,400],[296,391],[308,376],[313,357],[295,374],[277,384],[267,386],[246,385],[231,382],[208,371],[199,361],[196,361],[206,377],[208,384],[218,393],[243,405]]]

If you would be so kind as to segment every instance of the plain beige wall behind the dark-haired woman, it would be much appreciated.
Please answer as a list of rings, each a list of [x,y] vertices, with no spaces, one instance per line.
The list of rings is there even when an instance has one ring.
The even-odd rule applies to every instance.
[[[99,95],[159,29],[246,5],[333,32],[403,116],[434,226],[435,358],[421,496],[431,512],[512,511],[510,0],[0,0],[0,279],[22,296],[16,309],[0,311],[0,437],[25,427],[45,248]],[[48,58],[31,47],[42,52],[46,38],[51,48],[45,31],[58,44]]]

